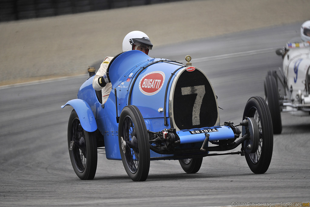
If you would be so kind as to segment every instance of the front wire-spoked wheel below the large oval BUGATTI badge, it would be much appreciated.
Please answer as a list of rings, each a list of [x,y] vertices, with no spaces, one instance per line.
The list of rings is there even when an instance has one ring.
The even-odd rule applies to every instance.
[[[124,142],[126,145],[124,145]],[[150,169],[150,146],[144,119],[136,106],[125,106],[119,118],[118,142],[122,162],[133,181],[145,181]],[[123,151],[122,144],[126,149]]]

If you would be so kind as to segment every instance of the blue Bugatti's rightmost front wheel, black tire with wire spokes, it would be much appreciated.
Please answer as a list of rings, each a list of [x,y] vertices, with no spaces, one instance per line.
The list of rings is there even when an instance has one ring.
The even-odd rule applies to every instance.
[[[247,101],[243,119],[245,117],[253,117],[259,128],[259,146],[254,153],[244,153],[246,162],[253,173],[265,173],[272,158],[273,133],[270,112],[262,97],[251,97]],[[242,143],[242,149],[244,147]]]

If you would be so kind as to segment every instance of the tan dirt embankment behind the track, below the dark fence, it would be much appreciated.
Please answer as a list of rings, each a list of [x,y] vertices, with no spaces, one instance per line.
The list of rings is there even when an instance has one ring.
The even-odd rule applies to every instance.
[[[86,73],[132,30],[155,47],[310,19],[309,0],[192,0],[0,23],[0,85]]]

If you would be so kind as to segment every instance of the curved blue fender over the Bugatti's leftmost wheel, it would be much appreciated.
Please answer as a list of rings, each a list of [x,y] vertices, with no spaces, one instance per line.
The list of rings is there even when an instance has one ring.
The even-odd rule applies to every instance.
[[[61,108],[64,108],[67,105],[72,106],[77,112],[82,128],[85,131],[94,132],[97,130],[97,122],[94,113],[86,101],[82,99],[73,99],[68,101],[65,105],[61,106]]]

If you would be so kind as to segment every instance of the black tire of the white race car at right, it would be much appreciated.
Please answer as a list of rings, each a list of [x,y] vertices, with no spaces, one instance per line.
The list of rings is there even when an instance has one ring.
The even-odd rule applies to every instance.
[[[273,75],[267,75],[266,81],[264,83],[265,89],[265,101],[269,107],[273,133],[281,134],[282,132],[282,121],[281,121],[281,111],[279,104],[279,91],[276,83],[276,79]]]

